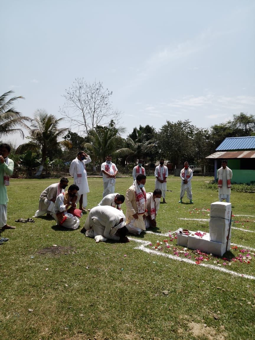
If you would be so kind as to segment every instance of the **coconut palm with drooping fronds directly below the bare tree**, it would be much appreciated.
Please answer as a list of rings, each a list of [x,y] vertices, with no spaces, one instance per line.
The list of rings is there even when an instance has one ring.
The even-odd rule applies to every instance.
[[[92,159],[97,159],[99,162],[104,162],[107,155],[112,157],[122,157],[133,153],[128,148],[121,148],[123,139],[121,134],[125,132],[122,126],[100,126],[89,132],[90,143],[85,143],[84,147],[91,151]]]

